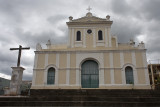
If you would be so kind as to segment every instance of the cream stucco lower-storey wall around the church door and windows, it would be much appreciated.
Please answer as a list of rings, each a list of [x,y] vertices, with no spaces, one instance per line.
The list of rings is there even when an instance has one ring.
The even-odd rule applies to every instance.
[[[76,53],[76,52],[71,52],[68,53],[69,54],[69,59],[67,59],[67,53],[59,53],[59,58],[57,58],[58,53],[49,53],[48,54],[48,65],[54,65],[56,67],[57,66],[57,62],[59,65],[59,68],[57,68],[58,72],[58,86],[57,85],[53,85],[53,86],[46,86],[45,89],[47,87],[50,88],[80,88],[81,84],[77,84],[77,83],[81,83],[81,75],[79,75],[79,82],[77,82],[77,72],[81,72],[81,71],[76,71],[76,69],[78,69],[82,60],[84,60],[85,58],[94,58],[96,60],[99,61],[100,64],[100,68],[104,68],[104,74],[101,74],[104,76],[104,85],[107,86],[101,86],[100,88],[108,88],[110,89],[111,87],[117,87],[114,85],[118,85],[121,84],[122,85],[122,67],[121,67],[121,63],[122,62],[122,58],[120,58],[120,52],[123,53],[124,55],[124,64],[126,63],[130,63],[132,64],[132,51],[113,51],[112,55],[113,55],[113,68],[111,68],[111,58],[110,58],[110,53],[109,52],[105,52],[105,53]],[[143,64],[143,58],[142,58],[142,53],[136,51],[135,52],[135,60],[136,60],[136,65],[138,64],[138,66],[135,66],[134,69],[136,69],[137,72],[137,78],[138,78],[138,84],[139,85],[144,85],[146,84],[145,81],[145,70],[144,70],[144,64]],[[78,55],[78,56],[77,56]],[[38,87],[40,87],[41,85],[46,85],[44,84],[44,70],[45,70],[45,54],[38,54],[38,59],[37,59],[37,70],[36,71],[36,75],[35,75],[35,86],[34,88],[36,88],[36,85]],[[80,58],[80,59],[79,59]],[[59,59],[59,61],[57,61]],[[67,62],[69,62],[70,64],[68,65]],[[78,63],[78,64],[77,64]],[[104,65],[103,65],[104,64]],[[68,67],[67,67],[68,65]],[[77,66],[78,65],[78,66]],[[78,68],[77,68],[78,67]],[[42,69],[42,70],[39,70]],[[44,70],[43,70],[44,69]],[[80,68],[79,68],[80,69]],[[111,70],[113,69],[113,70]],[[68,86],[66,85],[67,83],[67,72],[69,71],[69,83]],[[111,77],[111,72],[113,72],[113,76],[114,76],[114,85],[111,85],[111,80],[113,79]],[[47,76],[47,75],[46,75]],[[47,77],[46,77],[47,78]],[[100,78],[101,79],[101,78]],[[64,85],[64,86],[63,86]],[[76,86],[78,85],[78,86]],[[110,87],[108,87],[108,85],[111,85]],[[66,87],[65,87],[66,86]],[[129,86],[128,86],[129,87]],[[138,86],[135,86],[136,88],[138,88]],[[140,86],[142,87],[142,86]],[[127,88],[126,86],[124,87],[123,85],[121,87],[118,87],[120,89],[123,88]],[[145,88],[145,86],[143,86],[143,88]],[[146,85],[146,88],[148,88],[148,86]]]

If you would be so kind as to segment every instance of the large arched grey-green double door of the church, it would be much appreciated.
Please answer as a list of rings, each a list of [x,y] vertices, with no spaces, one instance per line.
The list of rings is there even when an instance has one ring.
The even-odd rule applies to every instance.
[[[82,88],[99,88],[99,67],[97,62],[87,60],[81,68]]]

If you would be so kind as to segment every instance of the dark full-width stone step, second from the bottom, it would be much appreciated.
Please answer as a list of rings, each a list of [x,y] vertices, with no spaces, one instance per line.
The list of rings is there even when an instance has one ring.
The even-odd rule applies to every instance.
[[[117,102],[158,102],[159,97],[28,97],[28,98],[0,98],[0,101],[117,101]]]

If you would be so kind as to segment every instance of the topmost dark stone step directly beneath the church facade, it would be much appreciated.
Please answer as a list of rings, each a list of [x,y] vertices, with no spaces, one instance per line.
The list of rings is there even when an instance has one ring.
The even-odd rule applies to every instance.
[[[31,95],[160,95],[160,91],[152,90],[31,90]]]

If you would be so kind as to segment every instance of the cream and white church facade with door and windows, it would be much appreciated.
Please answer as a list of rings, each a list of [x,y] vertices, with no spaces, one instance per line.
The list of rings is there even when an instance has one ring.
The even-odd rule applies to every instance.
[[[110,16],[69,17],[68,43],[37,44],[32,89],[150,89],[144,43],[118,43]]]

